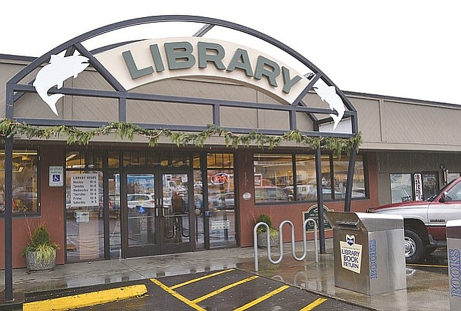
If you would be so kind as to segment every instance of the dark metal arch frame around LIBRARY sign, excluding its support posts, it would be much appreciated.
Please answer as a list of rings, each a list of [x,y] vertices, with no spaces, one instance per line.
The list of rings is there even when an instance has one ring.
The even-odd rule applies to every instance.
[[[54,49],[50,50],[49,52],[43,54],[43,56],[40,56],[39,58],[36,58],[32,63],[21,69],[20,72],[18,72],[14,77],[10,79],[7,83],[7,93],[10,92],[35,92],[34,87],[32,87],[31,84],[28,85],[21,85],[19,84],[19,81],[21,81],[25,76],[30,74],[34,69],[38,68],[41,66],[43,63],[45,63],[49,58],[50,55],[52,54],[58,54],[66,50],[66,54],[72,54],[75,50],[80,52],[83,56],[89,58],[89,63],[95,67],[95,69],[100,72],[100,74],[107,80],[107,82],[114,88],[115,92],[107,92],[107,91],[100,91],[100,90],[89,90],[89,89],[69,89],[69,88],[61,88],[59,89],[59,92],[61,94],[65,95],[78,95],[78,96],[94,96],[94,97],[109,97],[109,98],[118,98],[119,100],[119,121],[126,121],[126,100],[127,99],[142,99],[142,100],[162,100],[162,101],[167,101],[167,102],[172,102],[175,101],[176,103],[192,103],[189,102],[191,98],[186,98],[186,97],[178,97],[178,96],[152,96],[149,97],[146,94],[136,94],[133,92],[127,92],[126,89],[116,81],[116,79],[109,74],[105,70],[105,68],[96,60],[96,58],[93,56],[92,52],[98,52],[100,49],[103,49],[104,47],[100,49],[96,49],[92,52],[89,52],[88,50],[83,47],[81,44],[83,41],[86,41],[88,39],[92,39],[96,36],[99,36],[100,34],[105,34],[107,32],[111,32],[114,30],[118,30],[121,28],[127,28],[131,27],[134,25],[142,25],[142,24],[147,24],[147,23],[158,23],[158,22],[171,22],[171,21],[184,21],[184,22],[193,22],[193,23],[204,23],[204,26],[194,34],[194,36],[203,36],[211,30],[215,25],[217,26],[222,26],[224,28],[229,28],[232,30],[237,30],[239,32],[243,32],[245,34],[250,34],[251,36],[254,36],[255,38],[261,39],[263,41],[266,41],[270,43],[271,45],[278,47],[281,49],[283,52],[286,52],[293,58],[297,59],[297,61],[300,61],[303,65],[306,67],[310,68],[314,72],[314,77],[311,79],[311,82],[308,84],[308,86],[304,89],[304,91],[300,94],[299,98],[294,100],[292,105],[283,105],[281,107],[268,107],[268,105],[257,105],[258,107],[253,106],[253,108],[259,108],[259,109],[277,109],[277,110],[283,110],[283,111],[288,111],[290,115],[290,129],[296,129],[296,113],[297,112],[305,112],[309,114],[311,120],[314,122],[314,128],[317,129],[319,125],[325,123],[325,122],[331,122],[332,118],[329,116],[327,118],[323,118],[321,120],[317,120],[313,114],[331,114],[332,111],[330,109],[312,109],[309,107],[303,107],[303,104],[301,102],[302,98],[308,94],[310,89],[312,89],[312,86],[314,83],[319,79],[323,78],[323,81],[327,83],[330,86],[333,86],[334,83],[321,72],[317,66],[312,64],[310,61],[308,61],[307,58],[293,50],[291,47],[288,47],[288,45],[285,45],[281,43],[280,41],[277,41],[276,39],[273,39],[272,37],[263,34],[261,32],[258,32],[257,30],[253,30],[251,28],[247,28],[243,25],[239,25],[236,23],[232,23],[229,21],[223,21],[220,19],[213,19],[213,18],[208,18],[208,17],[197,17],[197,16],[190,16],[190,15],[161,15],[161,16],[154,16],[154,17],[141,17],[138,19],[131,19],[127,21],[121,21],[118,23],[112,23],[110,25],[103,26],[101,28],[97,28],[96,30],[92,30],[89,32],[86,32],[85,34],[81,34],[80,36],[76,36],[74,39],[70,39],[69,41],[58,45],[58,47],[55,47]],[[122,43],[120,43],[122,44]],[[115,45],[111,45],[109,47],[114,47]],[[107,47],[107,48],[109,48]],[[334,85],[336,87],[336,85]],[[53,88],[50,90],[50,93],[56,93],[57,89]],[[352,121],[352,134],[331,134],[331,133],[323,133],[322,136],[334,136],[334,137],[343,137],[343,138],[348,138],[351,136],[354,136],[358,133],[358,124],[357,124],[357,118],[356,118],[356,109],[350,103],[350,100],[343,94],[341,89],[336,87],[336,93],[339,94],[341,99],[343,100],[344,105],[347,107],[347,110],[345,111],[345,118],[351,118]],[[6,117],[7,118],[14,118],[13,114],[13,104],[14,101],[17,100],[18,96],[13,96],[13,100],[9,102],[8,94],[7,94],[7,105],[6,105]],[[197,99],[197,98],[195,98]],[[200,101],[200,100],[199,100]],[[194,104],[200,104],[197,103],[196,100],[193,100]],[[237,105],[235,103],[238,103]],[[204,103],[202,101],[202,104],[204,105],[213,105],[213,122],[215,125],[219,125],[219,107],[220,106],[233,106],[233,107],[249,107],[251,103],[242,103],[242,102],[229,102],[227,100],[213,100],[213,103]],[[301,108],[303,107],[303,108]],[[312,110],[311,110],[312,109]],[[28,122],[28,124],[32,125],[76,125],[76,121],[73,120],[54,120],[54,119],[29,119],[29,118],[15,118],[19,122]],[[87,121],[78,121],[78,126],[81,127],[99,127],[101,125],[106,124],[107,122],[87,122]],[[153,128],[156,127],[158,128],[158,125],[145,125],[142,124],[140,125],[141,127],[146,127],[146,128]],[[163,128],[166,125],[162,125]],[[204,127],[184,127],[182,128],[180,125],[176,125],[175,127],[171,129],[176,129],[176,130],[184,130],[184,131],[202,131]],[[248,129],[230,129],[231,131],[235,131],[236,133],[248,133]],[[267,131],[264,129],[259,129],[261,133],[268,133],[268,134],[273,134],[273,135],[280,135],[283,133],[283,131]],[[306,131],[305,134],[308,136],[320,136],[319,133],[316,133],[317,131]]]

